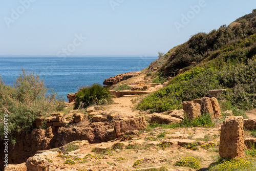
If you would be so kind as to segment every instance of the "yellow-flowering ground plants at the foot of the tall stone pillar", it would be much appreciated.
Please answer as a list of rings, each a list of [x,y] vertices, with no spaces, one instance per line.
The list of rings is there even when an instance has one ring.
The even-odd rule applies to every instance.
[[[244,170],[251,168],[252,163],[245,158],[223,159],[220,158],[217,162],[211,163],[208,167],[209,171],[231,171]]]

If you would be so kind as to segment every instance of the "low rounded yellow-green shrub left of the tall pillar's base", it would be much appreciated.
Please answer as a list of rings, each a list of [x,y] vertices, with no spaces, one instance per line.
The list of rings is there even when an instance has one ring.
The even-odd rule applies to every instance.
[[[176,161],[175,166],[190,167],[195,169],[200,169],[200,162],[195,157],[183,157]]]

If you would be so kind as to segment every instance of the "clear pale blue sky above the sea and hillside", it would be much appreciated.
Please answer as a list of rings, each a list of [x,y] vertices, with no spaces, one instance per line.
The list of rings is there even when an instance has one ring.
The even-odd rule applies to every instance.
[[[256,8],[255,0],[202,1],[1,0],[0,56],[157,55]]]

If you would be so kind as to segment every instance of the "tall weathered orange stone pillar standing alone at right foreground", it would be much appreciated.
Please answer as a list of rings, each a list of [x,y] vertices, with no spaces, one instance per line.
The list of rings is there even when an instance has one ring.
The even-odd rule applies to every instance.
[[[243,157],[244,118],[242,116],[227,116],[221,126],[219,154],[222,158]]]

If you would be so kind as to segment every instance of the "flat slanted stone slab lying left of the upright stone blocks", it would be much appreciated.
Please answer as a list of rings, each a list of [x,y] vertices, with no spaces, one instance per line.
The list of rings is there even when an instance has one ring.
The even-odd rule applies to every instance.
[[[168,115],[161,115],[157,113],[155,113],[151,117],[151,123],[169,124],[169,123],[180,123],[181,121],[182,119],[178,119]]]

